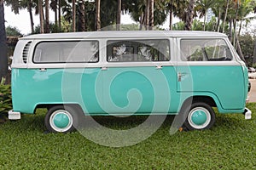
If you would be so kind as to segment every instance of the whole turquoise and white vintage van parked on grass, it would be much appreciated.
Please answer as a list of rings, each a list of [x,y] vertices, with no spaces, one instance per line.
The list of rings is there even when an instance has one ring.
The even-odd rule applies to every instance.
[[[47,108],[50,132],[86,116],[177,115],[189,130],[243,113],[247,67],[226,35],[207,31],[41,34],[17,43],[9,119]]]

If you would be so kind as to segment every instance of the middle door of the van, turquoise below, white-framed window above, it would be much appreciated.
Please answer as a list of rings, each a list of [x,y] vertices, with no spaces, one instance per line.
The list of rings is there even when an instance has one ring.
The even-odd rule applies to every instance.
[[[108,41],[104,110],[113,114],[176,112],[175,67],[168,39]]]

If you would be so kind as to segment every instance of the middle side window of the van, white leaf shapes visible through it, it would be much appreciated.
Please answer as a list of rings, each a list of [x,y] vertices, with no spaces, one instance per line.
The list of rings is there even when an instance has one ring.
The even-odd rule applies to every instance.
[[[170,60],[168,40],[108,41],[108,62]]]

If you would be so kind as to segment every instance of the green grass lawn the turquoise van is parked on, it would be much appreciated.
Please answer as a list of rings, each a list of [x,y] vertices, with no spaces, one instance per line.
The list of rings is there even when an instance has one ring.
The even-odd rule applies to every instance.
[[[169,134],[172,116],[139,144],[111,148],[75,133],[44,133],[44,111],[0,124],[0,169],[256,169],[256,104],[241,114],[217,114],[210,130]],[[134,127],[145,116],[118,122],[97,117],[113,128]]]

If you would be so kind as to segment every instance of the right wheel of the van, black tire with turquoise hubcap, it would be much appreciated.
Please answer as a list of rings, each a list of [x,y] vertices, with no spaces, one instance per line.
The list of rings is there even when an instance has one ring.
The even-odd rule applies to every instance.
[[[183,124],[189,130],[209,129],[215,122],[215,113],[210,105],[203,102],[195,102],[183,108],[181,114],[185,114]]]

